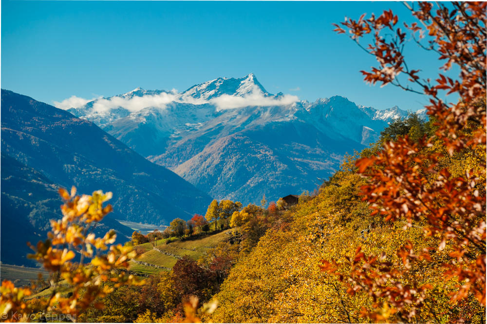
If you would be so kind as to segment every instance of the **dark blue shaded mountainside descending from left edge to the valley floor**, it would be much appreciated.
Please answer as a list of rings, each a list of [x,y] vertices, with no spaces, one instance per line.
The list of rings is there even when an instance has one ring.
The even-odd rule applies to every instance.
[[[38,208],[48,210],[47,214],[58,215],[57,193],[49,194],[49,199],[39,197],[41,191],[52,193],[59,186],[74,185],[80,193],[112,191],[112,218],[132,222],[169,224],[176,217],[189,219],[204,213],[211,202],[205,192],[151,163],[91,121],[7,90],[1,90],[1,152],[3,224],[19,217],[15,209],[5,211],[5,197],[14,205],[23,204],[22,215],[35,228],[44,228],[34,223],[39,218],[31,207],[40,204]],[[20,168],[10,167],[14,164],[29,170],[18,180],[21,186],[12,182],[11,173]]]

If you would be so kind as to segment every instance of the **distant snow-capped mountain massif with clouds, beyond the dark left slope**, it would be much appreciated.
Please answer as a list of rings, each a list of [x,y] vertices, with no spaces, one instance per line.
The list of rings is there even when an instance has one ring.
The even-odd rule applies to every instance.
[[[69,111],[213,197],[244,204],[317,188],[345,153],[407,115],[339,96],[307,102],[273,95],[253,74],[181,93],[137,88]]]

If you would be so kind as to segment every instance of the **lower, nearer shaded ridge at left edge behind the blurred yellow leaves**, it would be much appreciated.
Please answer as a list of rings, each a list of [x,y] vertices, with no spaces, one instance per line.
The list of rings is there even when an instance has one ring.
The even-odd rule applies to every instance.
[[[32,249],[27,242],[36,244],[51,229],[49,221],[62,218],[57,193],[59,185],[40,172],[27,167],[14,158],[1,153],[1,227],[0,260],[2,263],[35,266],[27,258]],[[117,233],[117,243],[127,241],[131,229],[115,220],[116,213],[107,216],[94,227],[102,235],[110,229]]]

